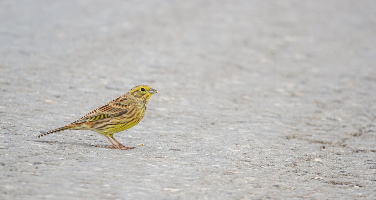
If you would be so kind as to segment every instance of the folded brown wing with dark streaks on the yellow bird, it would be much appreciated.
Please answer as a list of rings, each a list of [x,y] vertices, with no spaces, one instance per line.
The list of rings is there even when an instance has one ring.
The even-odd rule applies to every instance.
[[[114,117],[116,115],[124,115],[129,111],[129,108],[134,103],[133,99],[126,97],[115,98],[111,102],[108,102],[106,105],[95,109],[94,111],[89,112],[81,119],[71,123],[78,124],[89,121],[102,120],[109,117]]]

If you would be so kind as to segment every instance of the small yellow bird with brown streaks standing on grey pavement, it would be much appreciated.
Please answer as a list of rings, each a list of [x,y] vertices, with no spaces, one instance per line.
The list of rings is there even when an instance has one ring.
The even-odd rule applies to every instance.
[[[133,148],[120,144],[113,135],[114,133],[130,129],[141,121],[146,112],[147,102],[149,102],[150,97],[154,93],[159,92],[149,85],[135,86],[127,94],[113,99],[106,105],[89,112],[79,120],[58,129],[42,133],[36,136],[36,138],[69,129],[94,130],[99,134],[105,135],[111,142],[112,145],[108,146],[109,148]],[[115,145],[110,138],[118,143],[118,145]]]

